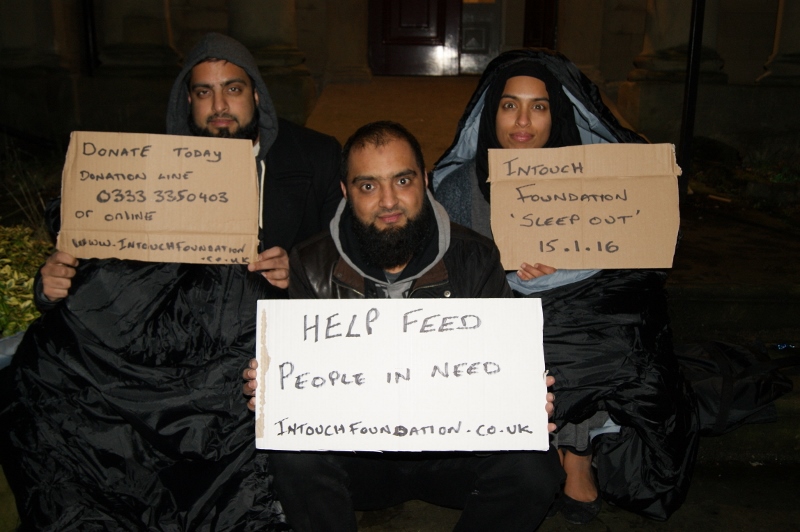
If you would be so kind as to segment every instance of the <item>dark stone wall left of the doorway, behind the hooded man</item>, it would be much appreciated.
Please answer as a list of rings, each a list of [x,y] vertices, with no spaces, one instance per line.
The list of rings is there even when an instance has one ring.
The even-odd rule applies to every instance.
[[[59,141],[162,132],[183,57],[208,31],[245,43],[278,113],[303,123],[317,88],[298,26],[293,0],[0,0],[0,127]]]

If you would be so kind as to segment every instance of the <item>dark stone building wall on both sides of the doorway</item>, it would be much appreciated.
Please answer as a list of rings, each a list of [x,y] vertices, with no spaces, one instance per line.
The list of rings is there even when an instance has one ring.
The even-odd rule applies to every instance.
[[[525,1],[497,1],[501,49],[518,47]],[[559,0],[558,49],[652,140],[677,141],[691,3]],[[85,5],[94,6],[96,61],[87,52]],[[325,84],[370,79],[367,6],[367,0],[0,0],[0,127],[45,138],[74,129],[161,131],[183,56],[207,31],[247,45],[279,114],[302,123]],[[800,2],[707,0],[704,34],[697,132],[741,136],[791,128],[791,113],[782,109],[793,108],[800,80]],[[775,116],[765,114],[770,109]]]

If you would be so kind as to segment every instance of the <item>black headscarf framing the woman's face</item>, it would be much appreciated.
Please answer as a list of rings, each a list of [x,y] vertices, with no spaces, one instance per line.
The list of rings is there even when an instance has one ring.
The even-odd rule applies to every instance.
[[[575,123],[572,102],[569,101],[561,83],[550,73],[546,66],[532,61],[519,61],[512,63],[497,73],[492,84],[486,89],[481,110],[481,121],[478,130],[478,151],[475,154],[475,169],[478,176],[478,187],[486,200],[489,200],[489,149],[501,149],[497,139],[495,119],[500,98],[506,87],[506,81],[516,76],[530,76],[540,79],[547,88],[550,98],[550,137],[544,148],[563,148],[565,146],[578,146],[581,144],[578,126]]]

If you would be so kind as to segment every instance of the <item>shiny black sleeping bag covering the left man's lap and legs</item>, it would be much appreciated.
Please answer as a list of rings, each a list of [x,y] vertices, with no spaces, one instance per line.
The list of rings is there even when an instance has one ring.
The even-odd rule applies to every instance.
[[[280,527],[241,372],[241,266],[83,260],[2,374],[2,462],[25,530]]]

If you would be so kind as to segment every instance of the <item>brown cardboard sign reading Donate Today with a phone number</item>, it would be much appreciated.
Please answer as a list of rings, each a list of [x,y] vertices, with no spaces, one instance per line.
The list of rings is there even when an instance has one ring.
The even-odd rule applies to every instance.
[[[75,131],[57,247],[78,258],[247,264],[258,255],[249,140]]]

